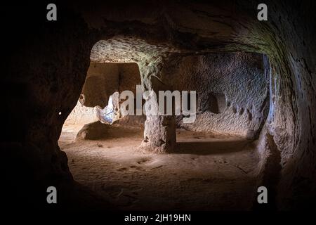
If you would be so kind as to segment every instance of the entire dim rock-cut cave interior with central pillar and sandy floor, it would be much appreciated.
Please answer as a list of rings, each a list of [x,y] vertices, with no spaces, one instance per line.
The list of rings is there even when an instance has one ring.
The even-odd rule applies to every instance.
[[[246,0],[69,2],[55,23],[41,5],[32,23],[15,18],[1,78],[8,205],[23,183],[22,208],[315,209],[313,3],[267,2],[268,21]],[[122,116],[116,96],[137,86],[196,91],[195,121]]]

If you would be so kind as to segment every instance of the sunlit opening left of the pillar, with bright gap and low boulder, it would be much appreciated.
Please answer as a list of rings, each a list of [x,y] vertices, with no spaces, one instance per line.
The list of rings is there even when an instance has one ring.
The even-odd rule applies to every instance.
[[[127,127],[143,129],[145,117],[121,117],[118,102],[121,91],[136,93],[136,85],[140,83],[136,63],[91,62],[77,105],[62,127],[61,146],[75,140],[106,139],[109,134],[117,134],[118,129]]]

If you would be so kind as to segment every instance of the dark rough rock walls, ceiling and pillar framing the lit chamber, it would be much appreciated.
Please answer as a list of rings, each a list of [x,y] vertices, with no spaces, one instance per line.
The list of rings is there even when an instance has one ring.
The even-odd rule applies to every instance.
[[[1,15],[12,18],[9,13],[14,11],[16,17],[12,24],[3,26],[8,34],[4,37],[4,52],[10,57],[3,62],[5,70],[1,76],[2,105],[6,109],[1,112],[1,117],[6,118],[1,149],[4,159],[11,163],[4,169],[10,184],[5,191],[11,202],[22,198],[16,188],[21,182],[29,184],[24,191],[33,193],[24,203],[36,206],[48,207],[43,203],[46,186],[67,187],[71,196],[78,193],[71,191],[74,181],[57,140],[63,122],[77,103],[90,59],[137,63],[143,89],[150,90],[154,89],[153,77],[162,77],[165,63],[173,54],[252,51],[264,53],[270,61],[266,66],[270,113],[261,134],[265,138],[260,140],[265,141],[261,143],[263,150],[258,152],[263,162],[258,172],[271,174],[269,168],[280,165],[279,169],[272,169],[277,173],[269,175],[272,180],[263,176],[258,184],[275,188],[278,209],[315,207],[315,3],[265,4],[269,8],[267,22],[256,19],[258,2],[246,0],[208,4],[60,3],[60,17],[55,23],[43,19],[45,3],[7,6]],[[247,109],[245,106],[244,113]],[[236,108],[236,113],[240,110]],[[157,134],[149,134],[150,145],[160,148],[174,140],[170,126],[164,125],[166,120],[147,118],[147,123],[152,122],[159,129]],[[167,124],[173,124],[173,120]],[[266,160],[272,166],[265,166]],[[15,193],[15,199],[9,193]],[[62,196],[58,207],[96,203],[81,200],[81,204],[76,204],[88,195],[71,196]]]

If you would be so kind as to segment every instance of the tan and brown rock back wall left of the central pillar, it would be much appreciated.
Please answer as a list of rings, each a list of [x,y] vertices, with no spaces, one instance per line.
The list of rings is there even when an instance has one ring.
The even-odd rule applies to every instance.
[[[107,106],[110,96],[115,102],[114,113],[120,113],[119,99],[114,98],[118,98],[118,94],[121,94],[122,91],[131,91],[136,97],[136,86],[140,84],[140,72],[136,63],[91,62],[79,101],[67,117],[65,124],[81,126],[86,124],[77,135],[77,139],[98,139],[106,136],[106,132],[102,134],[103,131],[107,131],[106,125],[102,129],[102,124],[91,122],[98,120],[104,122],[101,114],[105,113],[104,108]],[[133,113],[136,114],[136,101],[134,101]],[[115,121],[117,124],[144,126],[144,115],[126,115],[124,117],[117,115],[117,117],[121,117],[119,122]]]

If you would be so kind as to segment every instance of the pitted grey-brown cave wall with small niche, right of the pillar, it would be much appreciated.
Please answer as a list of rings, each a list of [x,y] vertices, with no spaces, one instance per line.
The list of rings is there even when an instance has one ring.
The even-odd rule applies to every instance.
[[[177,120],[185,129],[254,139],[268,116],[268,77],[261,54],[173,56],[163,70],[162,82],[171,90],[197,91],[195,122]]]

